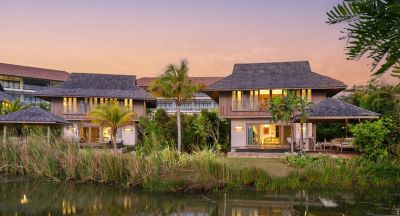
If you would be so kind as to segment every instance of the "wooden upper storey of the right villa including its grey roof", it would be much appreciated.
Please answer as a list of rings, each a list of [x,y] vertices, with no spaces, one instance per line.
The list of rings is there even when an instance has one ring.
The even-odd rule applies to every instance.
[[[346,88],[336,79],[311,71],[308,62],[236,64],[233,73],[206,92],[219,102],[225,118],[269,117],[270,102],[293,92],[318,103]]]

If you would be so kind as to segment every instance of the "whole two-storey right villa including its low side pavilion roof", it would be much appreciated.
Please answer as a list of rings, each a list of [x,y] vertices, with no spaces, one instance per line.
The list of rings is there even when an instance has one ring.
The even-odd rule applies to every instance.
[[[303,137],[309,146],[308,142],[315,143],[316,121],[379,117],[376,113],[338,100],[325,101],[345,88],[343,82],[315,73],[307,61],[299,61],[235,64],[231,75],[208,86],[206,92],[219,102],[220,116],[231,120],[232,151],[254,148],[287,150],[292,142],[291,126],[272,120],[268,111],[270,101],[293,92],[315,106],[322,103],[318,111],[311,113],[313,122],[303,126]],[[299,145],[300,129],[300,124],[296,123],[293,142],[297,148],[304,148]]]

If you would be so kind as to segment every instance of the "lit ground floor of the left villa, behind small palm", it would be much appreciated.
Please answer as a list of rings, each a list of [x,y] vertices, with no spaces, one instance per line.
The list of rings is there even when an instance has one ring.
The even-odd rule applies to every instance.
[[[73,122],[72,125],[64,127],[64,137],[73,139],[81,144],[102,145],[110,143],[111,128],[99,127],[90,122]],[[123,145],[136,145],[137,128],[128,125],[117,130],[117,143]]]

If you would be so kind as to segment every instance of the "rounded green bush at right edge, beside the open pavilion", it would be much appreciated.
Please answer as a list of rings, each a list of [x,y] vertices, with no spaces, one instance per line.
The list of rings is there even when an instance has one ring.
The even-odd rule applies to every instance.
[[[381,160],[389,156],[391,145],[400,142],[398,125],[389,118],[382,118],[374,122],[360,123],[350,128],[358,151],[365,158]]]

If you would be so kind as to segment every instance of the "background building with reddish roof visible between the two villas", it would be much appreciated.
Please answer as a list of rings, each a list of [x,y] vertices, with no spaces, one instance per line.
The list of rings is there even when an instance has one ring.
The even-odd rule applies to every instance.
[[[155,79],[157,78],[143,77],[137,80],[137,85],[147,90],[147,88]],[[207,87],[222,79],[222,77],[190,77],[189,79],[196,85]],[[175,113],[176,103],[174,100],[171,99],[157,98],[156,109],[159,108],[164,109],[167,113]],[[204,92],[197,92],[191,100],[187,100],[181,105],[181,112],[186,114],[199,113],[203,109],[218,109],[218,103],[216,103],[213,99],[210,98],[210,96],[208,96]]]

